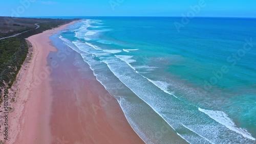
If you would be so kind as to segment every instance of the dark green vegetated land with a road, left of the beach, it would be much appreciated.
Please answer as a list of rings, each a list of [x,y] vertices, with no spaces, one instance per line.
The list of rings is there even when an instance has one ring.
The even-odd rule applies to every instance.
[[[5,22],[4,19],[4,17],[0,17],[0,26],[1,22]],[[28,45],[25,38],[74,20],[77,19],[18,18],[18,20],[14,21],[16,24],[15,26],[13,26],[14,23],[11,26],[2,25],[2,27],[0,27],[0,34],[2,34],[2,37],[11,36],[26,30],[30,31],[16,37],[0,40],[0,93],[2,93],[1,89],[4,86],[9,88],[12,86],[20,67],[27,57]],[[40,28],[35,29],[36,26],[34,23],[38,23]]]

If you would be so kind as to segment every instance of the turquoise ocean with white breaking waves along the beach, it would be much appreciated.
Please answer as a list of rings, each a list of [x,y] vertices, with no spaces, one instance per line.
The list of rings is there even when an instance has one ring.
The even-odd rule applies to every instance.
[[[256,143],[256,19],[82,18],[58,38],[145,143]]]

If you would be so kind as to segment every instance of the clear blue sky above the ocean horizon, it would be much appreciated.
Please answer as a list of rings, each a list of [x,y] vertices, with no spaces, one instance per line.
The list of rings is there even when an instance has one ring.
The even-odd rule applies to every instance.
[[[256,17],[256,0],[1,0],[0,16],[182,16],[200,1],[196,16]]]

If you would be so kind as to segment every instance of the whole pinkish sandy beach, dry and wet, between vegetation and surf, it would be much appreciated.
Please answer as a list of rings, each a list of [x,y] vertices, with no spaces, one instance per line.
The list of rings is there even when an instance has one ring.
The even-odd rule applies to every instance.
[[[117,100],[113,98],[102,107],[100,99],[108,91],[96,81],[92,71],[87,71],[88,79],[74,78],[79,76],[79,68],[72,64],[75,54],[62,64],[65,66],[57,60],[60,66],[50,67],[54,63],[49,54],[57,49],[49,37],[74,23],[27,39],[31,42],[29,55],[10,92],[16,94],[16,102],[10,113],[7,143],[143,143]],[[74,76],[66,76],[63,71],[67,69]],[[80,87],[69,85],[70,81]]]

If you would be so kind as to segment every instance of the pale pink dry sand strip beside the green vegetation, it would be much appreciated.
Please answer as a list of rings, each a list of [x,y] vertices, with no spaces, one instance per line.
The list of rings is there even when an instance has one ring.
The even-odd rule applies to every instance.
[[[29,52],[31,57],[26,58],[29,61],[22,65],[9,92],[9,95],[13,95],[17,90],[15,94],[17,100],[12,103],[14,111],[9,116],[9,139],[7,143],[50,143],[50,126],[48,127],[52,101],[50,77],[47,76],[40,86],[33,85],[33,83],[36,82],[35,77],[40,75],[41,69],[47,68],[49,53],[56,51],[56,48],[50,45],[49,37],[56,31],[66,29],[75,22],[67,23],[26,39],[32,44]],[[36,39],[45,43],[38,42]],[[42,47],[45,49],[41,49]]]

